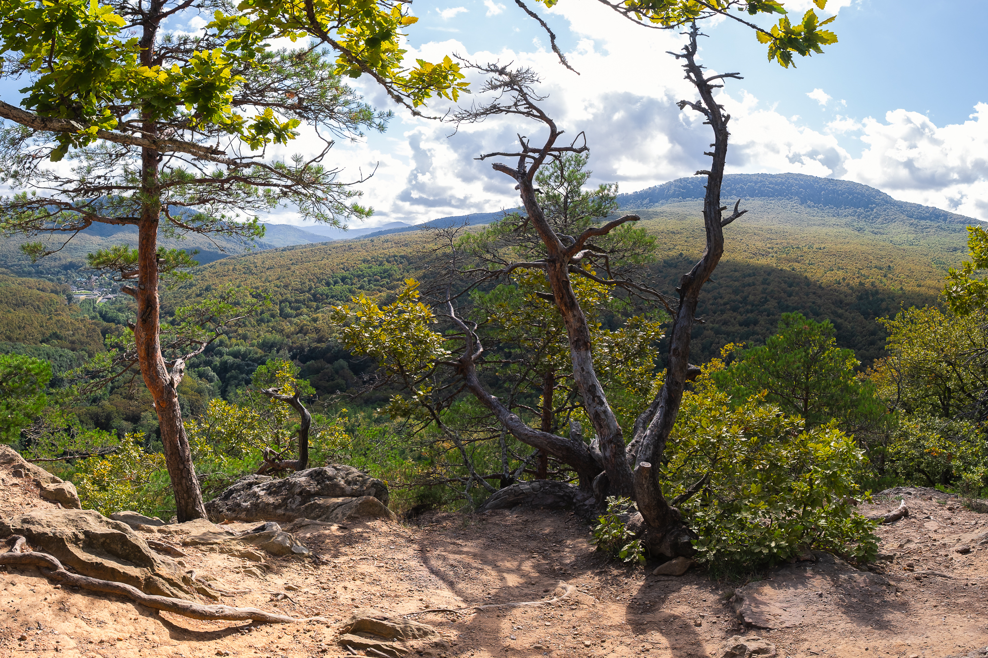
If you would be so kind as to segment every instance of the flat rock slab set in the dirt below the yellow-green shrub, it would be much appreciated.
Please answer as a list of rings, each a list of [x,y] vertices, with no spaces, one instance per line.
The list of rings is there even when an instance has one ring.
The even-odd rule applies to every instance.
[[[766,580],[739,588],[738,619],[757,628],[792,628],[830,617],[835,606],[849,604],[864,591],[871,597],[895,592],[883,576],[859,571],[829,553],[814,554],[814,564],[779,568]]]

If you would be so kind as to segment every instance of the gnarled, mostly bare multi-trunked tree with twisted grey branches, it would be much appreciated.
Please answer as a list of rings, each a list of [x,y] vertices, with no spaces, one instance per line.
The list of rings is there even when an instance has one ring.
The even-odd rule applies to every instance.
[[[696,61],[696,26],[688,33],[689,41],[682,53],[672,53],[682,59],[686,77],[700,94],[697,101],[682,101],[681,110],[690,108],[706,119],[704,124],[713,130],[712,151],[709,170],[698,171],[697,175],[707,177],[706,195],[703,200],[703,224],[706,233],[706,248],[700,261],[687,274],[683,275],[677,292],[675,307],[667,304],[672,315],[671,342],[665,384],[648,409],[641,414],[634,425],[634,436],[625,446],[617,418],[608,402],[604,387],[594,368],[591,334],[586,316],[573,291],[571,277],[587,277],[594,281],[639,295],[652,293],[650,288],[621,278],[601,278],[581,267],[581,261],[595,253],[593,238],[607,235],[618,226],[629,221],[637,221],[634,214],[624,215],[602,226],[591,227],[576,236],[558,233],[546,220],[535,189],[535,173],[539,167],[552,162],[568,152],[581,153],[587,150],[586,139],[581,132],[576,139],[562,141],[563,131],[540,108],[544,100],[535,94],[533,85],[535,74],[527,69],[510,70],[496,64],[478,67],[491,78],[484,91],[497,94],[490,104],[471,108],[457,116],[460,122],[480,122],[493,116],[517,116],[540,123],[548,134],[541,145],[533,145],[529,137],[519,135],[519,149],[516,151],[494,152],[480,156],[484,160],[493,157],[517,158],[514,166],[497,162],[495,171],[509,176],[515,181],[522,204],[528,215],[527,222],[535,228],[544,245],[544,258],[531,262],[510,263],[497,270],[488,271],[486,278],[501,278],[515,270],[539,269],[545,273],[553,301],[563,318],[569,341],[573,366],[573,378],[582,396],[582,403],[597,435],[591,445],[582,441],[571,441],[548,432],[535,430],[511,413],[493,396],[477,376],[477,364],[482,360],[484,350],[476,334],[475,325],[457,316],[453,306],[453,294],[446,300],[448,317],[464,336],[464,349],[455,362],[458,375],[464,387],[487,407],[501,424],[520,441],[566,461],[580,475],[581,486],[586,488],[593,481],[593,488],[599,499],[606,495],[632,497],[648,526],[648,544],[667,555],[689,554],[693,552],[691,540],[696,535],[683,523],[679,511],[666,501],[658,481],[658,468],[652,464],[662,462],[666,443],[676,422],[686,381],[696,376],[696,369],[689,364],[690,339],[696,321],[697,305],[703,284],[713,274],[723,254],[723,227],[734,221],[745,210],[739,210],[740,200],[727,216],[720,206],[720,187],[723,180],[724,164],[727,155],[730,116],[723,112],[713,98],[715,84],[725,78],[740,79],[736,73],[724,73],[706,77],[703,68]],[[661,295],[653,298],[665,302]],[[453,365],[453,364],[451,364]],[[602,472],[603,471],[603,472]],[[676,501],[678,504],[685,499]]]

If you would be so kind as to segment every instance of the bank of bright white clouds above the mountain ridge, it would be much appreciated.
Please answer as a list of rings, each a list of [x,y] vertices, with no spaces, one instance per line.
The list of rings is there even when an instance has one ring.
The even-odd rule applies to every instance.
[[[592,0],[559,3],[552,13],[561,14],[583,37],[566,53],[579,76],[545,49],[471,52],[460,41],[433,41],[409,48],[407,56],[437,61],[459,52],[481,63],[511,61],[533,67],[542,78],[539,93],[548,95],[544,108],[566,130],[564,137],[586,131],[594,171],[591,184],[617,182],[630,192],[705,169],[709,158],[702,152],[710,141],[709,126],[697,113],[676,107],[680,99],[696,98],[696,91],[683,80],[678,62],[664,55],[678,50],[682,37],[653,33],[648,40],[640,39],[639,28]],[[649,62],[648,75],[624,65],[628,61]],[[704,63],[714,72],[717,62]],[[468,77],[476,88],[479,78],[473,72]],[[375,85],[358,81],[358,86],[371,104],[391,107]],[[822,90],[810,97],[814,94],[830,100]],[[473,94],[464,99],[466,104],[474,101],[483,98]],[[988,218],[988,104],[977,106],[970,121],[957,125],[941,127],[922,115],[897,110],[884,122],[838,115],[824,130],[814,130],[798,116],[783,116],[775,106],[765,106],[732,81],[718,102],[732,116],[729,173],[843,178],[904,201]],[[451,107],[434,99],[429,111],[441,116]],[[357,177],[358,167],[367,172],[379,163],[373,178],[361,186],[363,202],[378,211],[372,224],[517,206],[514,182],[492,171],[490,161],[474,158],[512,148],[518,133],[537,141],[544,130],[535,123],[497,118],[461,125],[451,133],[449,123],[399,112],[385,135],[340,143],[329,161],[347,163],[346,180]],[[842,146],[843,140],[856,136],[865,144],[859,157]]]

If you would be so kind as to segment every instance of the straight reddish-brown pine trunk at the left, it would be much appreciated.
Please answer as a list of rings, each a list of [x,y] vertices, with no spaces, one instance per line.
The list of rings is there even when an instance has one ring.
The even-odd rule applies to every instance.
[[[141,37],[141,63],[153,65],[153,47],[160,23],[164,0],[154,0],[148,9],[144,33]],[[155,123],[150,111],[144,115],[145,134],[155,134]],[[154,410],[158,414],[161,443],[165,452],[165,465],[172,481],[175,495],[176,516],[179,523],[193,519],[206,519],[203,493],[196,478],[192,451],[182,422],[178,385],[183,366],[177,364],[175,372],[169,372],[161,354],[159,331],[161,328],[161,300],[158,294],[158,221],[161,216],[161,186],[159,162],[161,154],[144,147],[141,149],[141,214],[137,226],[137,287],[125,289],[137,301],[137,318],[133,338],[140,364],[140,373],[147,389],[154,398]]]

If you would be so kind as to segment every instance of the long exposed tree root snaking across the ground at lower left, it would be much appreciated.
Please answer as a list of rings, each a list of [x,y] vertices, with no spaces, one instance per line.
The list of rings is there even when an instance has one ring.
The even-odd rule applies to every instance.
[[[0,553],[0,565],[34,566],[41,569],[41,574],[65,585],[79,587],[100,594],[116,594],[130,599],[141,606],[154,610],[174,613],[193,619],[217,619],[227,621],[263,621],[266,623],[289,623],[292,621],[327,621],[325,617],[294,618],[285,615],[266,613],[257,608],[233,608],[231,606],[204,606],[193,601],[159,597],[144,594],[136,587],[117,583],[112,580],[90,578],[79,574],[69,573],[52,555],[37,551],[21,552],[26,539],[15,535],[14,547],[8,553]]]

